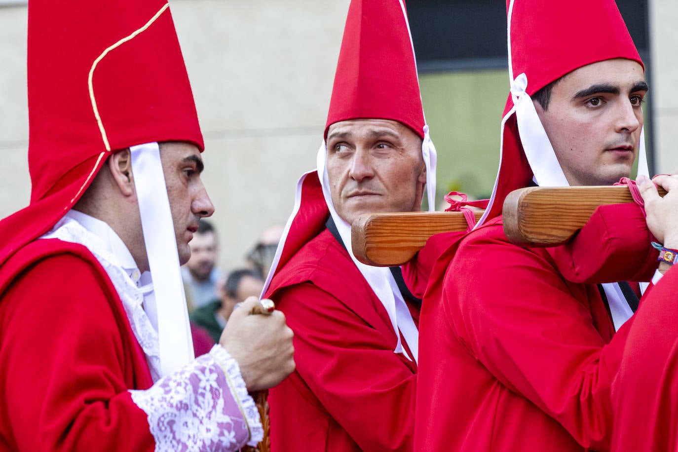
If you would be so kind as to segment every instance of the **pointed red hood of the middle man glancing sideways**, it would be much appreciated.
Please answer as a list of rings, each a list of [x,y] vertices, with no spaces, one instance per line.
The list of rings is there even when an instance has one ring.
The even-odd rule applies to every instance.
[[[330,125],[359,118],[399,121],[424,138],[417,66],[405,3],[351,1],[339,53]]]

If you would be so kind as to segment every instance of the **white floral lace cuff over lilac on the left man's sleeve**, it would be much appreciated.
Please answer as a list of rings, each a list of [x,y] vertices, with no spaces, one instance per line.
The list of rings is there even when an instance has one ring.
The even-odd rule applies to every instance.
[[[129,390],[157,451],[235,451],[263,436],[235,359],[220,345],[148,390]]]

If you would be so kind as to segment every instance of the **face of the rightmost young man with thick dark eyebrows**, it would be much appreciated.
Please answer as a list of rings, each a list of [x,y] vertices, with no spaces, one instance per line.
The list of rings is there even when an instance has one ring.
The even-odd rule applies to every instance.
[[[570,185],[611,185],[630,175],[646,92],[642,66],[617,58],[565,75],[547,110],[534,103]]]

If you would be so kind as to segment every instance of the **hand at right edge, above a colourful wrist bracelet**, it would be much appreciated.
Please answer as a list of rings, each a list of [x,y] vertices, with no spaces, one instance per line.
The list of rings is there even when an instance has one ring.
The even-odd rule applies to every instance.
[[[636,182],[645,201],[647,228],[664,247],[677,249],[678,176],[655,176],[653,180],[638,176]],[[663,198],[659,196],[655,184],[666,190]]]

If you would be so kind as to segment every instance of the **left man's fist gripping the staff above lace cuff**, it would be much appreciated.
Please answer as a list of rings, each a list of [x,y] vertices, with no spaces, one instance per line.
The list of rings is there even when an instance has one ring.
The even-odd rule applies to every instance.
[[[219,340],[238,362],[250,392],[271,388],[294,371],[293,333],[285,314],[252,314],[257,304],[249,297],[235,308]]]

